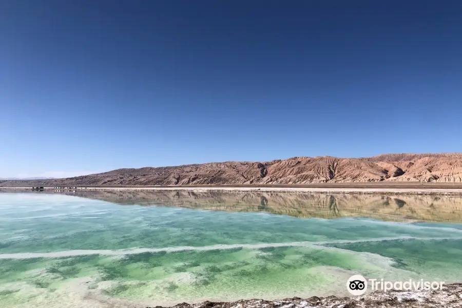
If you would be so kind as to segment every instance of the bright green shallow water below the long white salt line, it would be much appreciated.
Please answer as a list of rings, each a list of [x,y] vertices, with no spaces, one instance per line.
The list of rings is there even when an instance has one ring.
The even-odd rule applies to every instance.
[[[335,294],[351,273],[378,273],[387,260],[336,248],[267,247],[124,257],[85,256],[0,260],[0,284],[27,283],[54,292],[82,277],[84,287],[130,300],[164,298],[171,302],[215,297],[284,297]],[[21,264],[24,262],[23,264]],[[5,278],[8,277],[8,278]],[[4,288],[4,299],[16,298]],[[10,293],[9,293],[10,292]],[[26,299],[25,299],[26,300]],[[27,300],[26,300],[27,302]]]

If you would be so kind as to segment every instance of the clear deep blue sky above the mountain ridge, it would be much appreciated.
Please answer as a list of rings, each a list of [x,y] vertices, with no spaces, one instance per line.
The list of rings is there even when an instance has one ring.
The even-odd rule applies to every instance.
[[[0,0],[0,177],[462,151],[462,2]]]

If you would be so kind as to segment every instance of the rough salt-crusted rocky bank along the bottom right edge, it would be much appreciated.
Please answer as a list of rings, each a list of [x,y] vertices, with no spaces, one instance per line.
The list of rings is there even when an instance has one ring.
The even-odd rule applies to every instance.
[[[250,299],[234,302],[181,303],[171,308],[440,308],[462,307],[462,283],[445,285],[442,290],[374,292],[358,297],[299,297],[281,300]],[[151,307],[146,307],[151,308]],[[163,308],[156,306],[155,308]]]

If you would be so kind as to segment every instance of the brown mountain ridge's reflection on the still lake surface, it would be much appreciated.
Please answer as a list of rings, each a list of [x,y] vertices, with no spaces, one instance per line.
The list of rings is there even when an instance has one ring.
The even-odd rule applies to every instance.
[[[223,211],[260,211],[294,217],[462,221],[461,196],[188,190],[78,190],[53,193],[118,204],[178,206]]]

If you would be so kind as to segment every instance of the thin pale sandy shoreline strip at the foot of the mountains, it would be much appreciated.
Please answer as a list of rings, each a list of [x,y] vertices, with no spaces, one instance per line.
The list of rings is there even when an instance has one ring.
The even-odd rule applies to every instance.
[[[53,187],[44,187],[45,190],[57,190]],[[0,190],[31,190],[30,187],[0,187]],[[63,189],[61,189],[63,190]],[[462,195],[462,188],[354,188],[354,187],[223,187],[223,186],[206,186],[206,187],[77,187],[74,189],[64,190],[127,190],[127,191],[144,191],[144,190],[186,190],[186,191],[262,191],[262,192],[323,192],[332,194],[415,194],[415,195]]]

